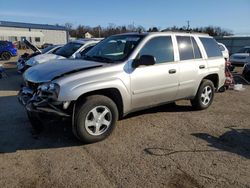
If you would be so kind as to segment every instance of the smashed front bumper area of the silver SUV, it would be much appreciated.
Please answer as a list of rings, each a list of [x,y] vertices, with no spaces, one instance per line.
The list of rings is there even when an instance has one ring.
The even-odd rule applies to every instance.
[[[52,101],[49,97],[44,97],[41,92],[34,91],[28,87],[23,87],[19,91],[18,100],[26,110],[31,113],[44,114],[53,117],[71,117],[71,115],[63,109],[65,108],[64,102]],[[69,102],[67,102],[67,104],[68,103]]]

